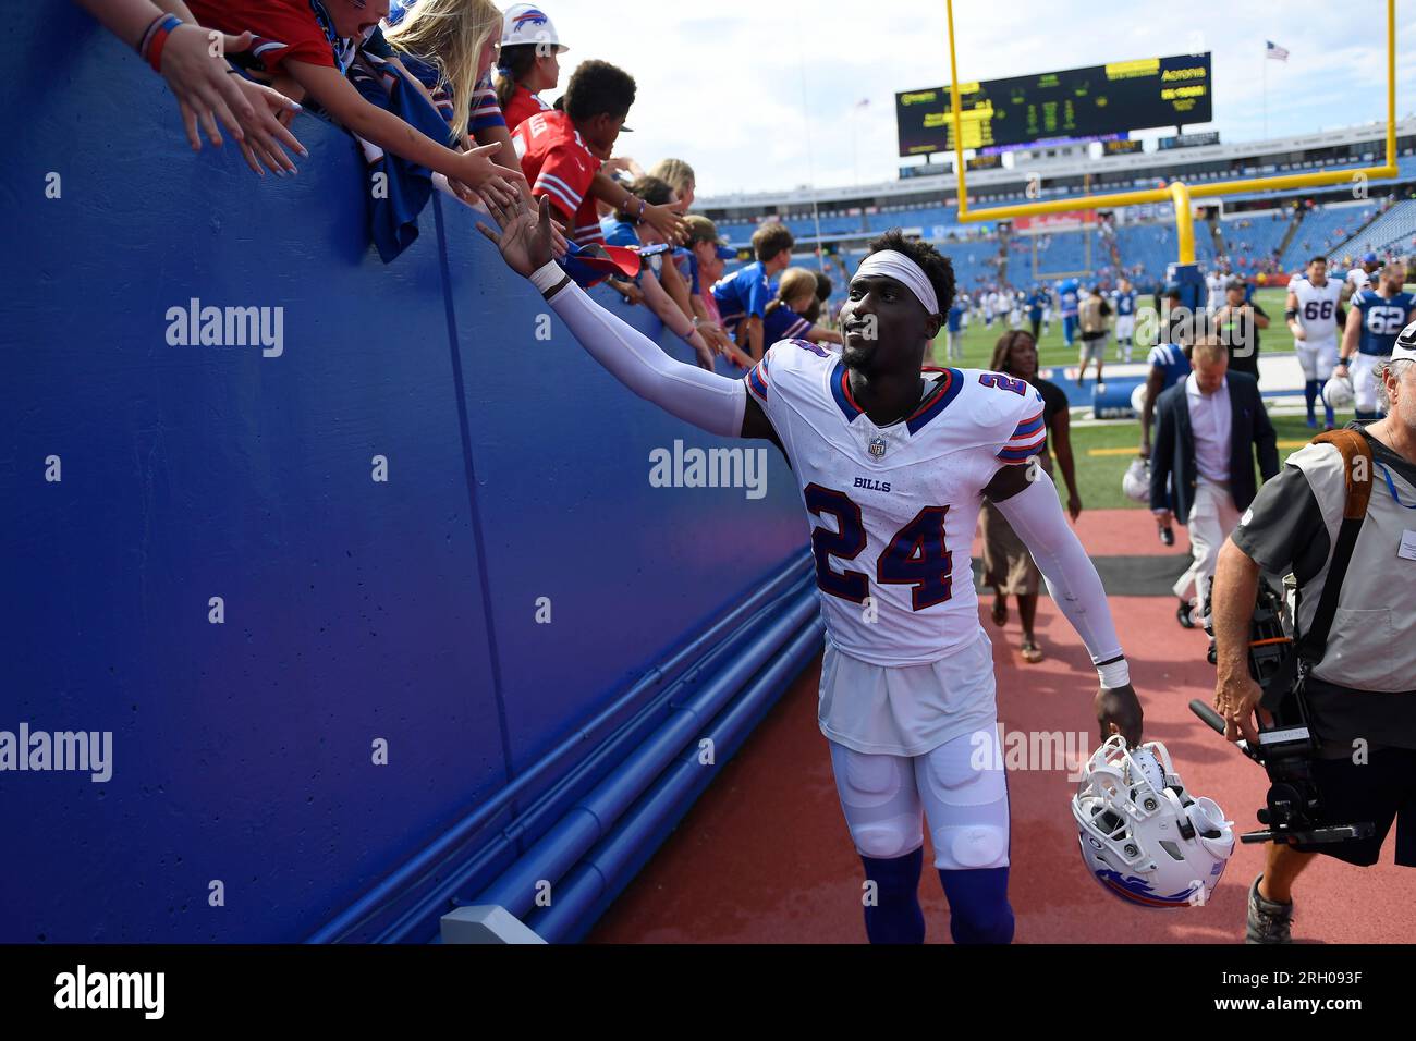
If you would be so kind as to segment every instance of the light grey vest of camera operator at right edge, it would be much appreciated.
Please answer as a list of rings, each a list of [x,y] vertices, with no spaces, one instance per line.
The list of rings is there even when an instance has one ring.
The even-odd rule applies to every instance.
[[[1341,453],[1332,445],[1306,445],[1287,462],[1307,477],[1327,524],[1328,545],[1337,545],[1347,501]],[[1342,579],[1327,653],[1313,676],[1342,687],[1393,693],[1416,690],[1416,559],[1396,552],[1405,533],[1413,533],[1408,541],[1416,538],[1416,510],[1392,500],[1383,472],[1403,503],[1416,503],[1416,487],[1389,466],[1374,465],[1366,520]],[[1331,551],[1323,569],[1300,589],[1300,633],[1313,626],[1330,565]]]

